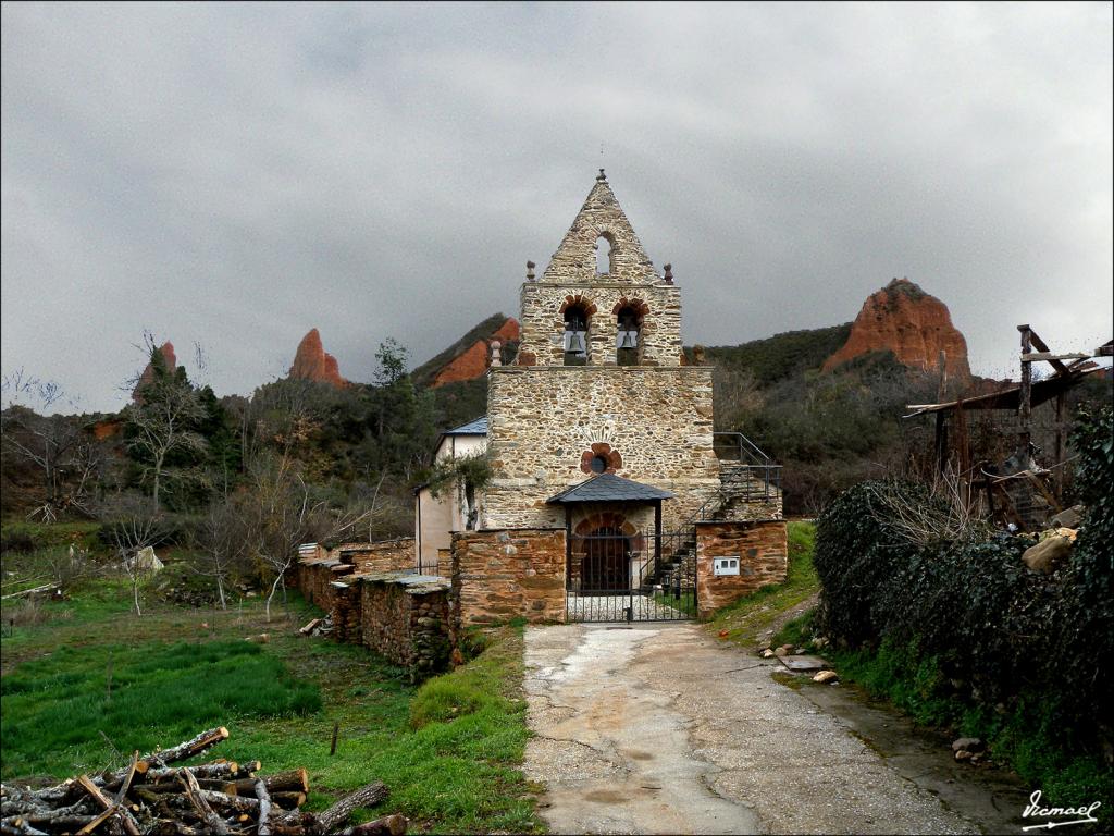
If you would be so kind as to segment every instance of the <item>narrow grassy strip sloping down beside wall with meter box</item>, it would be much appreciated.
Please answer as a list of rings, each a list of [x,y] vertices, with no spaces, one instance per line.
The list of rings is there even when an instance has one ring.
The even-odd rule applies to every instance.
[[[789,572],[785,583],[763,586],[719,610],[710,621],[714,631],[726,631],[727,640],[753,645],[760,634],[783,612],[807,601],[820,590],[812,566],[815,526],[812,523],[789,523]]]

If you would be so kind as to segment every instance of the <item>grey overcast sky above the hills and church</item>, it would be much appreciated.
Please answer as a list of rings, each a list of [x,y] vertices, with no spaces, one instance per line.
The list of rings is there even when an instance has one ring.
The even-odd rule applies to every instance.
[[[219,395],[313,327],[417,364],[517,314],[605,166],[686,342],[908,276],[1016,377],[1018,323],[1111,338],[1111,9],[4,3],[2,369],[115,410],[144,330]]]

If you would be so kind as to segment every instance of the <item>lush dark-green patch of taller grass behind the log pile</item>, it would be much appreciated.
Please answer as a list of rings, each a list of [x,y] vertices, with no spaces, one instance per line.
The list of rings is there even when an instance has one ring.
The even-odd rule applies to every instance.
[[[62,647],[0,679],[6,778],[97,768],[106,735],[150,751],[213,726],[316,711],[321,693],[258,644]]]

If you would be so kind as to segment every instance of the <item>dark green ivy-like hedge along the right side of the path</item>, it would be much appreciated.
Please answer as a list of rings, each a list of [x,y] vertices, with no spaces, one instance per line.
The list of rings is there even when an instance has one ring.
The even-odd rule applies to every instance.
[[[1025,536],[979,536],[977,527],[915,536],[902,509],[931,523],[946,508],[922,487],[898,483],[863,483],[832,502],[817,523],[814,562],[820,630],[844,651],[867,651],[868,684],[929,721],[956,698],[973,717],[995,708],[1039,716],[1042,740],[1086,759],[1114,737],[1112,410],[1081,412],[1072,440],[1077,489],[1089,505],[1071,560],[1051,575],[1026,568],[1022,554],[1034,541]],[[1030,750],[1018,743],[1009,757],[1024,770],[1036,764]],[[1039,762],[1048,768],[1030,775],[1068,760]]]

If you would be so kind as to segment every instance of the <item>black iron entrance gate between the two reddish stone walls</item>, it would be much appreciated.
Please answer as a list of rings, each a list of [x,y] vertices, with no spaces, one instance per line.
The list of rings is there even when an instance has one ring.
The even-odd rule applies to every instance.
[[[568,539],[565,620],[683,621],[696,616],[693,532],[614,527]]]

